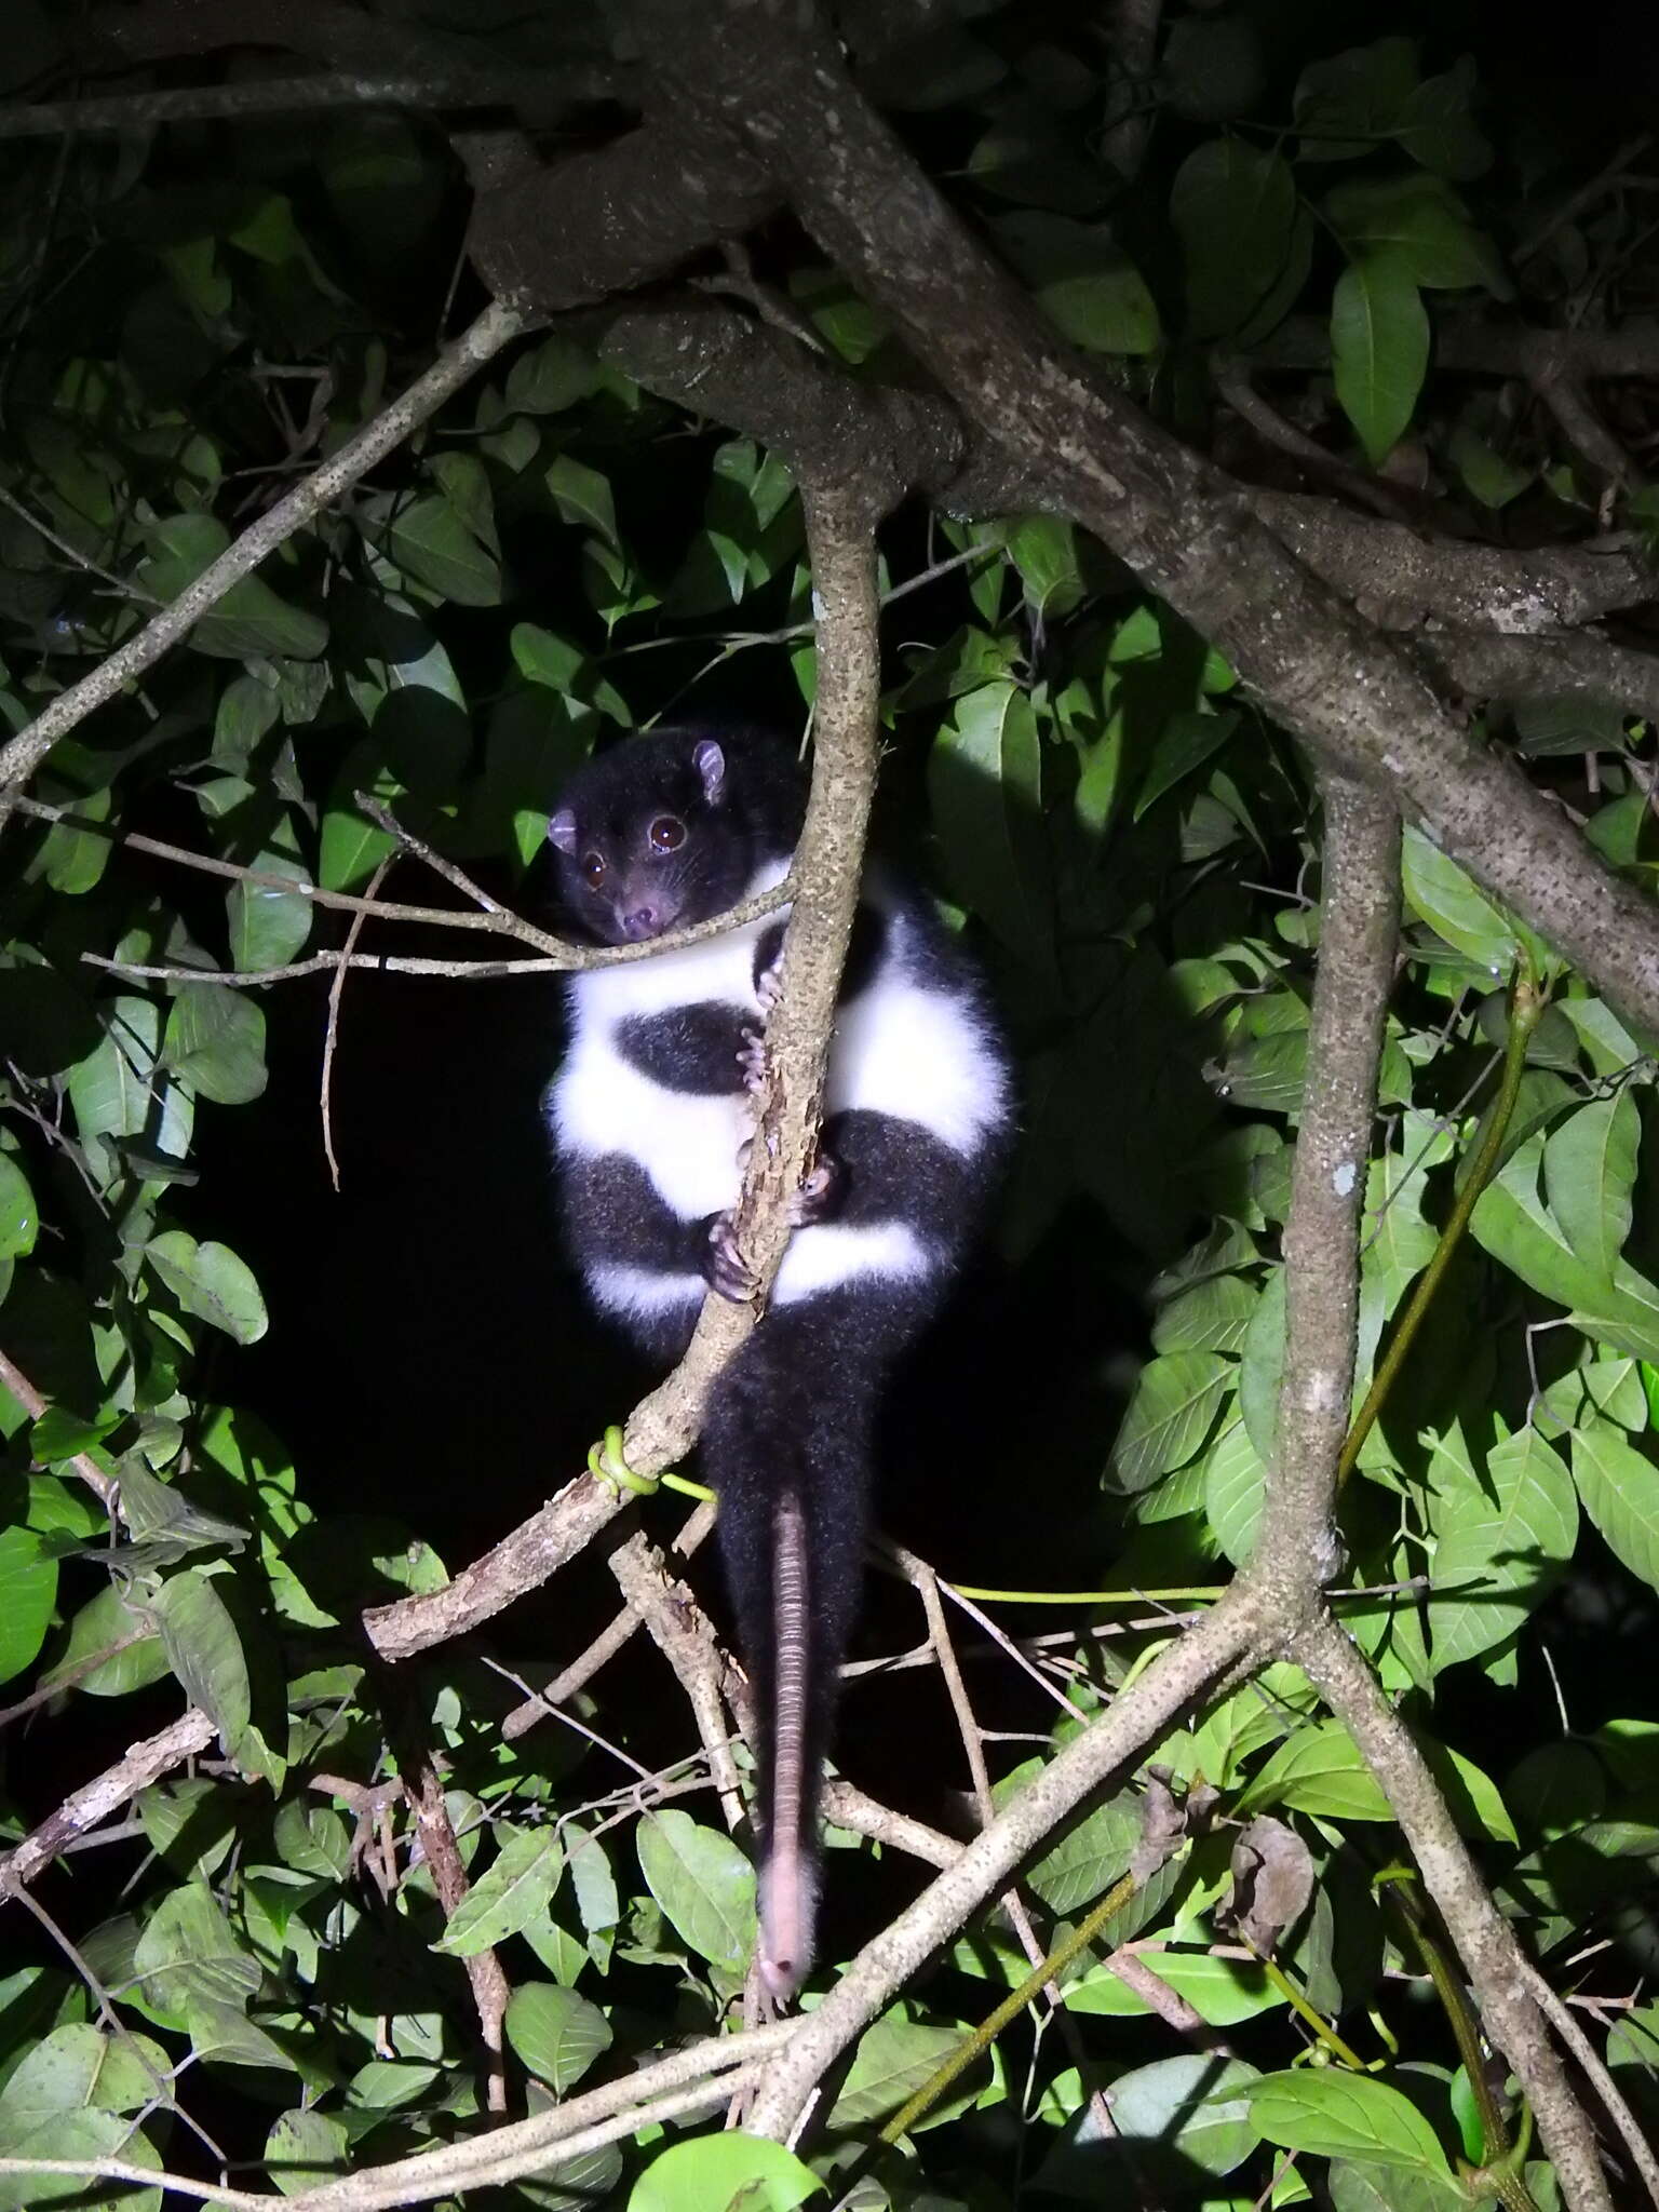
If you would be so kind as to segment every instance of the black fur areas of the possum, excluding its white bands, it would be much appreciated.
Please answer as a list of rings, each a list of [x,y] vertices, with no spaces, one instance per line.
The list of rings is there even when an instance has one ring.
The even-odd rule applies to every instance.
[[[714,757],[708,752],[710,737],[719,745]],[[568,922],[602,942],[619,942],[737,905],[757,869],[794,849],[803,799],[803,779],[787,748],[757,732],[675,730],[624,741],[577,774],[553,818],[551,834],[557,832],[564,847],[555,860]],[[653,823],[664,814],[686,827],[684,845],[668,858],[653,849],[650,838]],[[602,863],[597,887],[591,880],[595,856]],[[883,874],[878,896],[880,905],[858,911],[843,973],[843,1009],[852,1015],[865,991],[883,987],[883,978],[909,982],[960,1009],[982,1051],[984,1130],[969,1150],[958,1150],[918,1119],[863,1106],[830,1115],[821,1135],[821,1159],[830,1172],[803,1221],[907,1230],[911,1237],[902,1248],[920,1252],[925,1265],[880,1272],[876,1263],[874,1274],[801,1296],[785,1296],[781,1276],[772,1307],[719,1376],[701,1436],[703,1467],[719,1493],[721,1559],[754,1686],[763,1860],[776,1863],[779,1854],[792,1851],[807,1869],[816,1860],[816,1776],[858,1608],[876,1411],[894,1360],[949,1287],[1006,1128],[1004,1060],[978,978],[918,894]],[[641,916],[650,918],[650,929]],[[905,922],[902,967],[891,916]],[[781,922],[754,936],[757,989],[776,960],[781,936]],[[582,991],[580,980],[575,989]],[[690,1113],[692,1102],[743,1095],[741,1053],[754,1026],[752,1004],[699,998],[626,1015],[615,1024],[613,1046],[628,1071],[661,1088],[664,1115],[672,1115],[675,1097],[684,1097]],[[617,1082],[624,1079],[619,1073]],[[626,1314],[641,1349],[664,1365],[675,1360],[697,1318],[701,1301],[692,1279],[710,1265],[710,1230],[719,1217],[681,1219],[648,1168],[624,1150],[597,1157],[593,1150],[566,1150],[564,1219],[575,1256],[591,1274],[628,1267],[684,1281],[684,1292],[670,1298],[670,1285],[664,1285],[668,1303]],[[765,1809],[774,1803],[779,1774],[781,1599],[774,1559],[790,1500],[805,1533],[805,1781],[794,1832],[783,1836],[765,1834]],[[785,1969],[779,1980],[787,1986],[799,1980],[805,1958],[779,1964]]]

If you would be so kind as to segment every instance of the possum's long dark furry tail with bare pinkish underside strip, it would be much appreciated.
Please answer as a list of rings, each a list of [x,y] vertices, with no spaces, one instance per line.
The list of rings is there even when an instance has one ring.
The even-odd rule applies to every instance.
[[[761,1978],[812,1964],[818,1787],[858,1610],[869,1467],[889,1345],[867,1301],[774,1307],[714,1385],[703,1464],[757,1708]]]

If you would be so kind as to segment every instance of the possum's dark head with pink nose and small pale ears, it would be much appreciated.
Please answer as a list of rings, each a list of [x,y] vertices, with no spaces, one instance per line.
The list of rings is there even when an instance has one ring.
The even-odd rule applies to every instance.
[[[794,794],[794,774],[779,783],[768,759],[787,752],[754,743],[664,730],[588,761],[546,825],[571,925],[599,945],[659,938],[726,914],[763,863],[792,852],[799,799],[779,810],[779,792]]]

